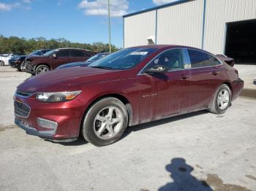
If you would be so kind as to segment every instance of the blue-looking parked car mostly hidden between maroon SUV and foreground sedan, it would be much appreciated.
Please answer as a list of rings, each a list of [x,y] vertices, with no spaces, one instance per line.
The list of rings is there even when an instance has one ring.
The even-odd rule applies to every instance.
[[[94,55],[91,58],[89,58],[87,61],[76,62],[76,63],[65,63],[65,64],[62,64],[61,66],[57,67],[56,69],[67,69],[67,68],[75,67],[75,66],[88,66],[90,63],[93,63],[94,61],[97,61],[100,58],[103,58],[109,54],[110,54],[109,52],[98,53],[97,55]]]

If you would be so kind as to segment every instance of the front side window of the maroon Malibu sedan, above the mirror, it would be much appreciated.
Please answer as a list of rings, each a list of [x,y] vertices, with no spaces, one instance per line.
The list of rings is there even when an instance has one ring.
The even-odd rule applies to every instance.
[[[167,50],[154,58],[147,68],[154,68],[154,65],[165,66],[168,70],[184,69],[184,58],[181,49]]]

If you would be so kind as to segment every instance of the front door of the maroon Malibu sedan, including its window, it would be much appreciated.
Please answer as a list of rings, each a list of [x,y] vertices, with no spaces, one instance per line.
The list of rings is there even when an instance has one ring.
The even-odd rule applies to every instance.
[[[154,89],[155,119],[188,111],[189,71],[186,63],[183,49],[171,49],[154,58],[144,70],[145,74],[154,65],[165,66],[167,69],[162,74],[146,74]]]

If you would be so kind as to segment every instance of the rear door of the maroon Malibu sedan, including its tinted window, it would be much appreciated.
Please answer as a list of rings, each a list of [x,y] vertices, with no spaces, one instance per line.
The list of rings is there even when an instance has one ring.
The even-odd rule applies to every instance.
[[[217,87],[222,84],[222,62],[214,55],[201,50],[187,49],[191,69],[189,70],[189,110],[208,106]]]

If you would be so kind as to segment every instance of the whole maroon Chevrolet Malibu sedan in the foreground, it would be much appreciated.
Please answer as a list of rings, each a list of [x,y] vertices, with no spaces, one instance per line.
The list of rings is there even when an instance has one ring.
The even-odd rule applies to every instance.
[[[225,60],[193,47],[152,45],[39,74],[17,88],[15,123],[45,139],[73,141],[81,133],[104,146],[127,125],[203,109],[222,114],[244,86]]]

